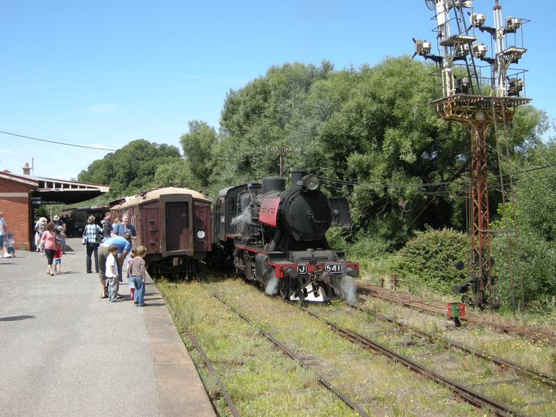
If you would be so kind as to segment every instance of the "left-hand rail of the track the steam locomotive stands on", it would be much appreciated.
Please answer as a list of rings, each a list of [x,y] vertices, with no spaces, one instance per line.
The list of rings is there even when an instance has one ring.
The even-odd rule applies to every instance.
[[[293,304],[291,302],[289,303]],[[293,305],[295,306],[295,304]],[[338,334],[344,336],[348,340],[357,341],[363,347],[370,348],[372,350],[375,350],[375,352],[384,354],[386,357],[389,357],[390,359],[393,359],[394,361],[397,361],[398,363],[407,366],[407,368],[409,368],[410,370],[413,370],[414,372],[420,375],[428,377],[438,382],[439,384],[442,384],[443,386],[447,386],[452,392],[456,393],[457,395],[459,395],[460,398],[463,398],[465,401],[467,401],[468,403],[472,404],[475,407],[479,407],[481,409],[491,409],[491,411],[493,411],[493,413],[496,414],[496,416],[500,416],[500,417],[509,417],[509,416],[527,417],[526,414],[523,414],[520,411],[507,406],[506,404],[502,404],[501,402],[493,400],[492,398],[486,397],[481,393],[477,393],[476,391],[468,389],[466,386],[458,384],[457,382],[452,381],[451,379],[445,378],[442,375],[439,375],[438,373],[435,373],[432,370],[425,368],[424,366],[420,366],[418,363],[411,361],[411,359],[404,357],[401,354],[398,354],[396,352],[393,352],[393,350],[390,350],[387,347],[379,345],[379,343],[371,341],[370,339],[366,338],[365,336],[362,336],[361,334],[358,334],[357,332],[353,332],[350,329],[343,329],[342,327],[334,324],[333,322],[325,318],[322,318],[317,314],[313,313],[312,311],[309,311],[308,309],[304,309],[301,306],[297,306],[297,308],[301,309],[302,311],[305,311],[306,313],[308,313],[309,315],[315,318],[318,318],[319,320],[326,322],[327,325],[329,325],[333,329],[336,329]]]

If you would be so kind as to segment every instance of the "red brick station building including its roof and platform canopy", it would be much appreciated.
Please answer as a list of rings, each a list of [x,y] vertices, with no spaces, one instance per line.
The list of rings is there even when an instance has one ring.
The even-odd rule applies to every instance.
[[[12,233],[15,248],[31,250],[35,245],[33,209],[40,204],[77,204],[107,193],[109,186],[79,183],[42,177],[32,177],[28,164],[24,174],[6,170],[0,172],[0,211],[6,221],[7,233]],[[56,214],[56,213],[54,213]],[[51,220],[51,219],[49,219]]]

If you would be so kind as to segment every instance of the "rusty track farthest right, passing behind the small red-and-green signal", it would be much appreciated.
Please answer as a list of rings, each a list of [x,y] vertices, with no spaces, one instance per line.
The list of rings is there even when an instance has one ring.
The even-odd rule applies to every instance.
[[[389,291],[379,286],[372,286],[362,283],[357,283],[357,291],[359,293],[377,297],[382,300],[402,304],[411,309],[418,309],[420,311],[426,311],[429,313],[446,316],[446,303],[429,303],[423,300],[423,298],[416,295],[398,293],[395,291]],[[475,318],[468,315],[460,317],[459,320],[473,323],[475,325],[494,327],[504,333],[516,333],[521,336],[530,338],[534,341],[546,341],[548,343],[556,343],[556,336],[553,331],[550,331],[550,329],[523,329],[521,327],[516,327],[513,325],[502,325],[500,323],[491,322],[489,320],[481,320],[480,318]]]

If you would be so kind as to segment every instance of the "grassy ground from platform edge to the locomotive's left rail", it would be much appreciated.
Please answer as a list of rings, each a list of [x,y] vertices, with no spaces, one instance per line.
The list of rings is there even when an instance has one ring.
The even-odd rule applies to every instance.
[[[346,341],[324,322],[278,297],[263,295],[241,279],[179,284],[159,280],[157,285],[186,320],[242,416],[357,415],[322,387],[315,373],[304,370],[262,337],[258,327],[271,332],[371,416],[490,415],[457,402],[448,389]],[[256,326],[240,319],[213,293],[224,297]],[[334,304],[328,308],[330,305],[334,309]],[[180,329],[179,323],[177,326]],[[217,398],[220,415],[227,415],[214,379],[206,375],[188,337],[183,339],[208,391]]]

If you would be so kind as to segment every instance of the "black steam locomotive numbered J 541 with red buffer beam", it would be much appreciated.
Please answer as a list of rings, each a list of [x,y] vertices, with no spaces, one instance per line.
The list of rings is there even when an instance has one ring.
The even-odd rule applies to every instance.
[[[269,295],[285,300],[352,301],[352,277],[359,263],[332,250],[325,233],[350,227],[345,197],[328,198],[318,177],[292,173],[220,190],[213,208],[213,256],[231,263],[238,275],[259,281]],[[213,258],[214,259],[214,258]]]

